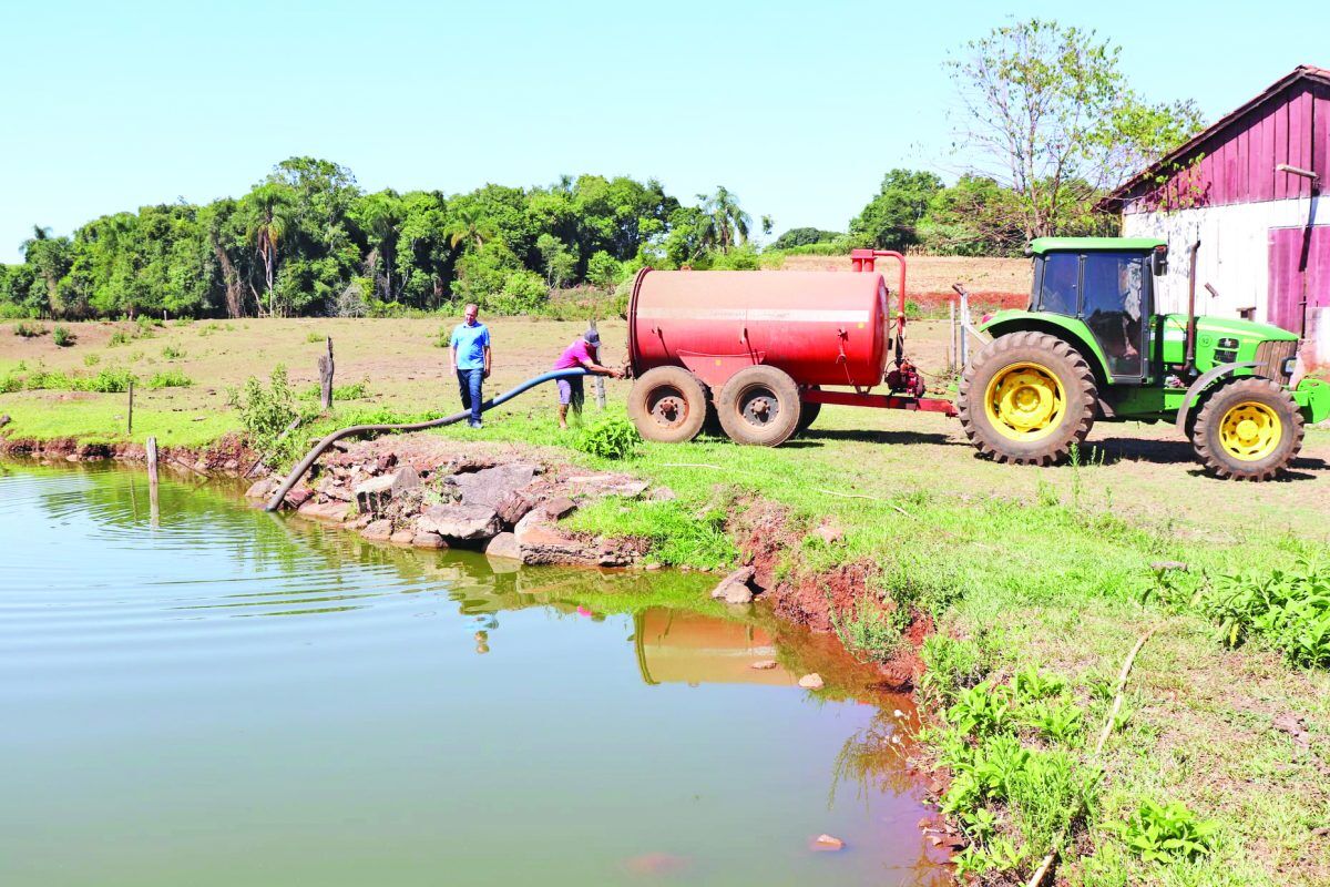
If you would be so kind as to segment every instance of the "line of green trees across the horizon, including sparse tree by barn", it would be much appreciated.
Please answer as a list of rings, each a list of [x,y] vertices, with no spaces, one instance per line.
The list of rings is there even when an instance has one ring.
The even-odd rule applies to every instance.
[[[1037,19],[966,44],[948,64],[958,140],[975,149],[958,181],[892,169],[845,231],[795,227],[766,251],[1016,255],[1035,237],[1116,231],[1101,198],[1200,128],[1192,102],[1138,97],[1117,53]],[[35,227],[24,262],[0,265],[0,317],[359,317],[462,301],[520,314],[645,265],[758,267],[754,227],[725,188],[692,203],[656,180],[592,174],[367,193],[344,166],[293,157],[239,198],[144,206],[68,237]]]

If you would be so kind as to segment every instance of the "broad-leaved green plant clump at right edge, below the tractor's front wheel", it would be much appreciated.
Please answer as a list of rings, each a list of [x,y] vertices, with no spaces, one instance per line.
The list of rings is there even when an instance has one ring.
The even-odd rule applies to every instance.
[[[1258,640],[1293,665],[1330,666],[1330,564],[1298,561],[1290,570],[1225,573],[1200,601],[1218,640]]]

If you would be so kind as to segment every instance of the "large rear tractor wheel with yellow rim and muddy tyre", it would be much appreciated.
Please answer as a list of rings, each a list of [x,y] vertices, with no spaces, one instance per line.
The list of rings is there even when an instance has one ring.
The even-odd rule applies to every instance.
[[[956,407],[983,455],[1051,465],[1085,440],[1097,402],[1095,374],[1075,348],[1045,332],[1011,332],[971,360]]]

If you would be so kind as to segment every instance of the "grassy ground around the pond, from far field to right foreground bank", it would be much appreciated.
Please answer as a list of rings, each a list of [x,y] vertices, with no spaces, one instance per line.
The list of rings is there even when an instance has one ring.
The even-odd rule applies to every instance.
[[[121,343],[112,343],[116,332],[130,331],[116,324],[72,326],[77,344],[65,348],[49,336],[0,335],[0,376],[23,363],[29,372],[39,364],[65,372],[125,367],[150,378],[169,367],[192,378],[185,388],[136,395],[138,442],[154,434],[166,444],[201,445],[238,427],[227,388],[277,363],[290,367],[297,390],[307,388],[327,335],[339,383],[363,386],[306,436],[367,411],[456,404],[446,355],[431,344],[436,320],[196,323]],[[497,391],[548,368],[583,323],[492,327],[489,391]],[[943,327],[911,328],[914,354],[940,372]],[[617,359],[622,323],[601,330]],[[624,383],[609,383],[612,414],[621,415],[625,394]],[[0,394],[0,412],[12,416],[13,436],[120,440],[124,398],[24,390]],[[1100,424],[1077,464],[1048,469],[978,460],[959,427],[938,415],[837,407],[779,449],[704,439],[646,444],[628,463],[572,449],[577,432],[557,430],[552,391],[513,402],[480,431],[440,434],[555,445],[588,467],[669,485],[673,501],[608,501],[575,516],[583,529],[650,537],[665,563],[728,565],[735,548],[726,527],[754,503],[774,503],[787,517],[782,574],[864,567],[866,609],[843,614],[842,634],[866,658],[890,653],[911,613],[932,616],[938,633],[923,650],[930,672],[920,692],[932,713],[928,747],[952,777],[944,803],[975,839],[963,866],[988,882],[1028,878],[1064,826],[1060,883],[1330,878],[1330,850],[1318,832],[1330,826],[1330,680],[1323,669],[1290,664],[1260,633],[1230,649],[1217,640],[1220,617],[1204,606],[1225,574],[1269,574],[1323,555],[1323,430],[1307,434],[1287,480],[1260,485],[1204,476],[1172,428],[1148,426]],[[831,541],[811,532],[819,527],[837,531],[826,533]],[[1188,569],[1161,586],[1152,568],[1160,561]],[[864,613],[883,616],[872,622]],[[1124,714],[1096,755],[1123,660],[1150,629]],[[1150,813],[1146,802],[1165,813]],[[1213,827],[1201,826],[1208,821]],[[1141,835],[1150,824],[1192,835],[1201,848],[1148,858]]]

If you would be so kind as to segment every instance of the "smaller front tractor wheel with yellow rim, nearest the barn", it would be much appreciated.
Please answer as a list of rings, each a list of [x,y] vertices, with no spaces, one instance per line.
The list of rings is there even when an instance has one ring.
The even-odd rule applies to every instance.
[[[1270,480],[1302,449],[1302,411],[1270,379],[1228,383],[1196,416],[1192,445],[1220,477]]]

